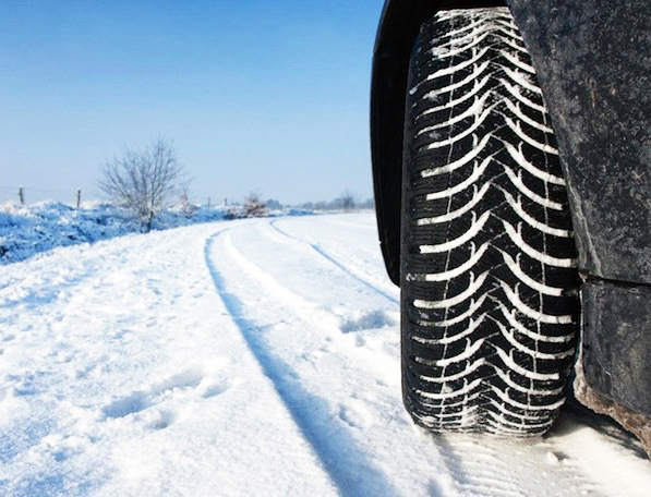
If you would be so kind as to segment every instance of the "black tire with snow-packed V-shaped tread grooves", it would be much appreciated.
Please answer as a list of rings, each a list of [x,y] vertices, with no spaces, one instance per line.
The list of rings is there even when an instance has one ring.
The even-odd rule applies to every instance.
[[[567,194],[507,9],[437,13],[406,104],[402,395],[434,432],[544,433],[578,322]]]

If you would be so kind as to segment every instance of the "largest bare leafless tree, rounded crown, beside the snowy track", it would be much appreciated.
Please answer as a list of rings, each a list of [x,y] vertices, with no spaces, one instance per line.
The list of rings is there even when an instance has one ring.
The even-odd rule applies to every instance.
[[[183,168],[165,140],[156,140],[143,151],[126,150],[103,167],[99,187],[128,210],[146,231],[154,217],[183,186]]]

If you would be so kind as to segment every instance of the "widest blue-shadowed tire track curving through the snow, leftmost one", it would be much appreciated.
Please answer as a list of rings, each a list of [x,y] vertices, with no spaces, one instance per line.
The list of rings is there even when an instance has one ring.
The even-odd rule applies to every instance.
[[[220,231],[206,241],[204,256],[215,288],[228,312],[240,329],[249,349],[272,380],[280,399],[287,407],[297,426],[321,460],[325,471],[342,495],[396,495],[395,488],[385,475],[367,461],[364,452],[342,429],[327,424],[324,413],[326,401],[304,389],[290,374],[291,367],[275,355],[266,344],[263,330],[246,317],[245,304],[229,290],[222,272],[212,258],[212,252],[219,237],[228,237],[229,230]],[[341,457],[345,454],[346,457]],[[354,461],[351,465],[350,461]]]

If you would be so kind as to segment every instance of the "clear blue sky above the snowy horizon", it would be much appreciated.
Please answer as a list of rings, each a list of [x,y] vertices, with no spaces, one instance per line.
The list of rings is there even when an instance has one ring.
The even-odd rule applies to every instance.
[[[383,0],[0,1],[0,199],[98,197],[170,140],[197,201],[372,195]]]

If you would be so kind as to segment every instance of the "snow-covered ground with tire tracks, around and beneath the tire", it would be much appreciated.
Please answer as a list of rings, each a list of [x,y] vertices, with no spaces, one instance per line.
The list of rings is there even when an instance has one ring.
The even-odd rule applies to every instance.
[[[651,495],[640,446],[578,409],[517,443],[415,428],[398,299],[371,214],[2,265],[0,495]]]

